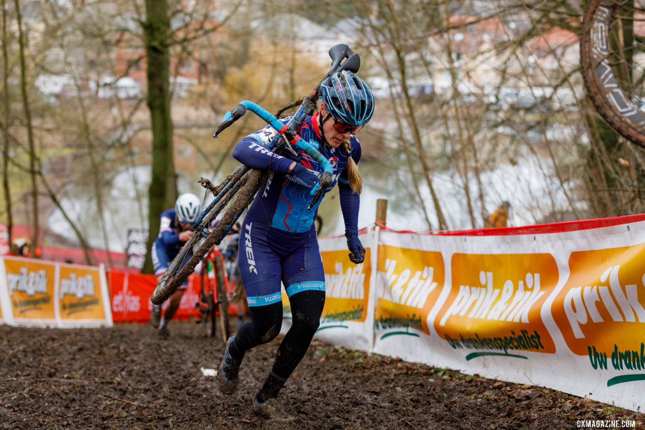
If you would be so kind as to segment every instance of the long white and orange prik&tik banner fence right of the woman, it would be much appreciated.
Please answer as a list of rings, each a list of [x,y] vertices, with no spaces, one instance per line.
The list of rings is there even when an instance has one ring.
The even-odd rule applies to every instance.
[[[362,265],[344,237],[320,240],[327,298],[316,337],[636,411],[645,403],[643,220],[370,230]]]

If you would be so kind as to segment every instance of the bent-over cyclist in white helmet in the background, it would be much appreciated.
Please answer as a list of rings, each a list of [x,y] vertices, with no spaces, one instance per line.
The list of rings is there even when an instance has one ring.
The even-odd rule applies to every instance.
[[[154,265],[157,282],[161,281],[164,273],[168,270],[170,262],[174,260],[184,243],[193,235],[192,227],[200,214],[201,200],[190,192],[179,196],[175,202],[175,207],[161,214],[159,236],[157,236],[157,240],[152,245],[152,264]],[[188,280],[172,295],[163,316],[161,315],[161,306],[154,305],[152,307],[150,323],[152,323],[153,327],[159,328],[160,336],[168,336],[168,323],[179,309],[179,303],[184,291],[186,291],[187,284]]]

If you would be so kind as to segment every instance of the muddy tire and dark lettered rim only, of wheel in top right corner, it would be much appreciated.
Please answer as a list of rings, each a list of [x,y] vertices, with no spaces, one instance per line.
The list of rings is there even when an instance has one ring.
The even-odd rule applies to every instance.
[[[590,0],[582,21],[582,79],[597,112],[620,136],[645,147],[645,112],[620,87],[611,63],[611,20],[620,3]]]

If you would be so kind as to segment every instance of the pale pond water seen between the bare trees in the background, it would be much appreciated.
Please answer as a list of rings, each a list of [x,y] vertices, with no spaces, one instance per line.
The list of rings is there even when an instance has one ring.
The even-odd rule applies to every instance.
[[[229,142],[224,139],[212,139],[210,135],[204,135],[199,142],[203,143],[202,148],[207,155],[212,154],[211,158],[206,162],[202,156],[188,147],[180,150],[180,154],[188,161],[184,159],[177,162],[177,188],[180,194],[194,192],[210,202],[212,196],[204,192],[197,180],[204,177],[211,179],[213,183],[220,183],[239,163],[230,155],[226,156],[220,172],[213,176],[212,167],[219,163]],[[486,210],[492,213],[502,201],[510,201],[511,225],[534,224],[553,210],[566,211],[566,197],[556,182],[557,179],[550,172],[544,171],[545,164],[548,163],[539,166],[536,161],[521,159],[514,166],[501,165],[495,170],[483,172],[481,180],[486,196]],[[104,219],[111,251],[123,252],[127,245],[126,235],[129,229],[147,227],[150,169],[150,165],[137,165],[108,172],[108,177],[112,179],[110,189],[104,192]],[[374,222],[376,201],[383,198],[388,200],[388,227],[395,230],[428,230],[426,217],[406,169],[407,165],[397,159],[386,162],[361,161],[359,170],[364,179],[364,188],[361,195],[359,228]],[[432,180],[449,228],[470,229],[470,216],[465,209],[466,196],[459,176],[454,172],[437,172]],[[417,178],[417,183],[428,210],[430,223],[436,229],[437,217],[429,189],[423,178]],[[479,192],[473,186],[475,183],[475,178],[471,178],[471,201],[473,210],[477,213],[477,227],[482,227]],[[582,202],[580,204],[582,205]],[[61,198],[61,205],[70,218],[77,222],[90,247],[104,249],[92,187],[87,184],[68,186]],[[337,187],[321,202],[319,216],[323,220],[319,237],[344,233]],[[47,223],[52,232],[70,241],[76,241],[74,231],[60,210],[52,209],[48,214]]]

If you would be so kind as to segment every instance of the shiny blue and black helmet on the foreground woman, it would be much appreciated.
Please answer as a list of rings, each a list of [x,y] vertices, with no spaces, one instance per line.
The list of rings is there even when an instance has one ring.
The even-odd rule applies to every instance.
[[[374,113],[372,90],[360,77],[346,70],[321,83],[319,98],[334,118],[350,125],[366,125]]]

